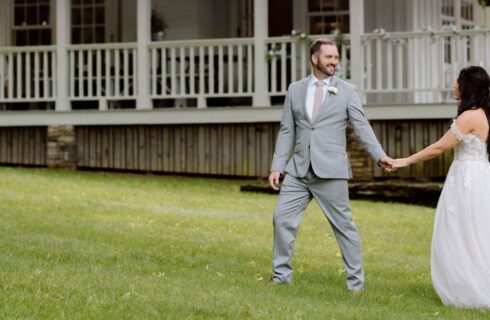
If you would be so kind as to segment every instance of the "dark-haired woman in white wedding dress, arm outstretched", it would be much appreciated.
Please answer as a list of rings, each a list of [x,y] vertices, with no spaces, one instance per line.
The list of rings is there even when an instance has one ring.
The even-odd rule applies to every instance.
[[[455,84],[457,118],[436,143],[393,169],[434,158],[454,148],[454,161],[437,204],[431,275],[445,305],[490,308],[490,78],[476,66]]]

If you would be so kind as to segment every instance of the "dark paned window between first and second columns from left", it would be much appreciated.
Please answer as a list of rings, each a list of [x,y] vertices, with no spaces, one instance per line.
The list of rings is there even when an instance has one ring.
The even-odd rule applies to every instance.
[[[105,1],[72,0],[71,41],[80,43],[105,42]]]

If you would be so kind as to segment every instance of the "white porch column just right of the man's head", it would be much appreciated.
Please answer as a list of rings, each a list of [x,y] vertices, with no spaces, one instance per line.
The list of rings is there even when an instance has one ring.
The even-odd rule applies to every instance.
[[[351,82],[356,86],[361,101],[365,102],[363,75],[364,53],[361,35],[364,33],[364,0],[349,0],[350,23],[350,76]],[[345,59],[346,57],[341,57]]]

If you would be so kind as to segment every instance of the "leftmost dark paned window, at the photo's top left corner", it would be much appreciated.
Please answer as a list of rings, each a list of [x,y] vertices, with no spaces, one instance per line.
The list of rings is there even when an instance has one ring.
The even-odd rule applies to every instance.
[[[13,17],[15,46],[52,44],[50,0],[14,0]]]

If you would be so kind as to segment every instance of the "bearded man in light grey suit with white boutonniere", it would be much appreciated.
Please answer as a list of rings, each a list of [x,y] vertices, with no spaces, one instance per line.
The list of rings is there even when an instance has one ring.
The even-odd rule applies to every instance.
[[[339,62],[335,43],[318,39],[310,47],[312,74],[289,86],[272,160],[269,184],[278,189],[274,213],[272,283],[292,281],[294,240],[306,206],[314,197],[330,222],[347,272],[350,291],[364,289],[361,241],[352,221],[347,180],[352,172],[346,153],[350,121],[376,163],[390,170],[387,157],[362,110],[355,89],[334,76]]]

